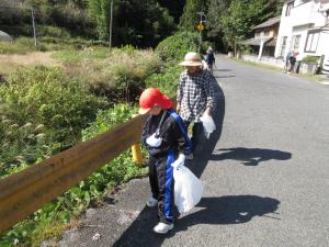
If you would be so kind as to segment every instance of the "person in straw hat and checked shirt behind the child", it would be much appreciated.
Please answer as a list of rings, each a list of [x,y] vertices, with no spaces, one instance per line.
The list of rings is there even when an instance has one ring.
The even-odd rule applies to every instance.
[[[203,135],[203,125],[200,117],[203,114],[212,115],[214,108],[215,77],[202,69],[202,59],[196,53],[188,53],[180,65],[185,66],[181,72],[177,92],[177,111],[180,113],[186,130],[191,123],[193,151]],[[191,156],[188,158],[192,158]]]

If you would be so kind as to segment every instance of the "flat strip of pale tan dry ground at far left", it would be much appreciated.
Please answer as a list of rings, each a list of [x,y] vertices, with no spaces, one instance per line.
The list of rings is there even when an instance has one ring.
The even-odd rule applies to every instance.
[[[60,63],[52,58],[52,53],[5,54],[0,55],[0,66],[5,64],[21,66],[60,66]]]

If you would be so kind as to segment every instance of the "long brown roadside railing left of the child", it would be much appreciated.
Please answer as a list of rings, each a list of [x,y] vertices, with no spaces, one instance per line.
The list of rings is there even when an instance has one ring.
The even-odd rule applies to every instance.
[[[139,143],[146,116],[0,180],[0,232],[60,195],[132,145]]]

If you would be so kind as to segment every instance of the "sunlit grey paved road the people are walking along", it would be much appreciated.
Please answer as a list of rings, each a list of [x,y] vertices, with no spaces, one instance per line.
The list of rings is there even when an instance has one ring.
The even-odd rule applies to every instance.
[[[61,246],[329,246],[329,86],[216,60],[217,131],[189,165],[205,186],[201,203],[157,236],[148,181],[136,179]]]

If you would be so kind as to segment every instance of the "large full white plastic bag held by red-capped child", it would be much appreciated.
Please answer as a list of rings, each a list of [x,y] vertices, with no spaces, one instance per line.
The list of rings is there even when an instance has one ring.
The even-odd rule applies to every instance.
[[[185,166],[173,169],[173,179],[174,204],[180,213],[185,213],[200,202],[203,184]]]

